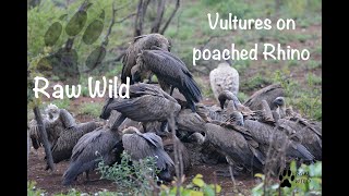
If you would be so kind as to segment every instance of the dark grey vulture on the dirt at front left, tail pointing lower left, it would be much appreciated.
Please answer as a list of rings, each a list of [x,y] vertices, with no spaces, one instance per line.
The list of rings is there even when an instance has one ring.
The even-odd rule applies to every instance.
[[[120,117],[112,117],[115,119],[110,119],[108,124],[86,133],[77,140],[63,174],[63,185],[70,185],[83,172],[86,172],[86,177],[89,180],[88,172],[94,170],[101,159],[109,166],[120,159],[123,147],[116,126]]]

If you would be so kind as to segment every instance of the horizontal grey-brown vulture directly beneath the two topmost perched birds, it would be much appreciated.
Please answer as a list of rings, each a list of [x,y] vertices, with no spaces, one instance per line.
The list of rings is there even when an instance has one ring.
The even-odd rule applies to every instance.
[[[163,122],[161,131],[165,131],[166,123],[171,117],[176,117],[181,110],[177,100],[169,96],[161,88],[149,84],[134,84],[130,86],[130,98],[108,98],[103,107],[101,119],[108,119],[111,110],[121,113],[119,126],[125,118],[133,121],[143,122],[144,131],[146,123]]]

